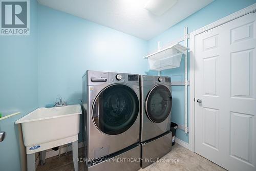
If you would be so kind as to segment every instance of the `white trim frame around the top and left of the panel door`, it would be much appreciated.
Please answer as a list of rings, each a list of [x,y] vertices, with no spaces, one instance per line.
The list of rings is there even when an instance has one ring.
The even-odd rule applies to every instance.
[[[190,93],[189,93],[189,149],[192,152],[195,152],[195,48],[196,48],[196,35],[207,32],[210,29],[221,26],[225,23],[230,22],[231,20],[237,19],[241,16],[249,14],[251,12],[256,12],[256,3],[252,4],[244,9],[241,9],[235,13],[232,13],[226,17],[223,17],[217,20],[214,23],[206,25],[196,31],[193,31],[189,34],[189,43],[190,43],[190,70],[189,70],[189,81],[190,81]]]

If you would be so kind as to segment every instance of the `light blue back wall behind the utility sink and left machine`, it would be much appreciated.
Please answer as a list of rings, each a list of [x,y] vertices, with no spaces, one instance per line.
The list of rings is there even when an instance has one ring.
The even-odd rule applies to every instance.
[[[147,71],[145,40],[41,5],[38,10],[39,106],[59,96],[68,104],[80,103],[86,70]]]

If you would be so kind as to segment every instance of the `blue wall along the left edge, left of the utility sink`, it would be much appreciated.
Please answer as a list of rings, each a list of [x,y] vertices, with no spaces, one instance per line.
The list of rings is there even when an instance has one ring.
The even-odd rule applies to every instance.
[[[0,112],[20,115],[0,121],[7,136],[0,143],[0,170],[20,170],[14,122],[37,108],[37,2],[30,1],[30,35],[0,36]]]

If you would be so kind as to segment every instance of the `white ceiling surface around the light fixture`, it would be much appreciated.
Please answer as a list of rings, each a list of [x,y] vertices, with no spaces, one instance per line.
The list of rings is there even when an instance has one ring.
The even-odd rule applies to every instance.
[[[146,9],[149,0],[38,0],[42,5],[148,40],[214,0],[178,0],[161,16]],[[182,30],[183,31],[183,30]]]

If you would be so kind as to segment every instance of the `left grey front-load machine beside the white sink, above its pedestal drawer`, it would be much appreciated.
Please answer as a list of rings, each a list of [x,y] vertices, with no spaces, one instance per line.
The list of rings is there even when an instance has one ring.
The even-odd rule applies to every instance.
[[[122,154],[124,148],[124,153],[139,158],[140,145],[136,145],[140,135],[139,75],[87,71],[83,75],[82,94],[86,158],[92,161],[113,157],[115,153]],[[99,164],[88,165],[95,170],[101,168]]]

